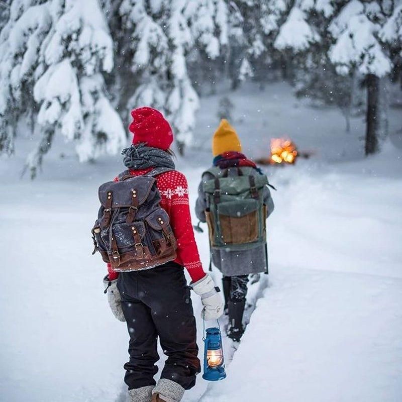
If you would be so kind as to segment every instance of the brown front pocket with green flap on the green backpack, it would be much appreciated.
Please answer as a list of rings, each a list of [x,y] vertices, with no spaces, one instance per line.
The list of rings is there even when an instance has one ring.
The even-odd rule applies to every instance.
[[[255,199],[218,205],[221,237],[225,244],[252,243],[258,239],[259,205]]]

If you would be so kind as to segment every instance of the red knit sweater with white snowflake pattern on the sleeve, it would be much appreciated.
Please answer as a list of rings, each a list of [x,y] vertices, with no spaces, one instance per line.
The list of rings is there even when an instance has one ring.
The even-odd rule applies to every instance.
[[[130,170],[130,173],[133,176],[141,176],[151,170],[152,168]],[[118,180],[116,177],[115,181]],[[177,240],[177,258],[174,262],[183,265],[195,282],[204,277],[205,272],[199,260],[191,225],[187,180],[183,173],[171,170],[156,176],[156,186],[161,195],[160,206],[169,215],[170,225]],[[110,280],[119,276],[119,272],[115,272],[110,264],[108,272]]]

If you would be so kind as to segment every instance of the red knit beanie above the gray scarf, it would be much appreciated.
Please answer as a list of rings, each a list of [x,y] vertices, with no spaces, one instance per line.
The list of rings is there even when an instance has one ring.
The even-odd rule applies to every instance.
[[[129,130],[134,134],[133,144],[145,142],[148,147],[166,151],[173,142],[173,132],[162,113],[153,108],[131,111],[133,122]]]

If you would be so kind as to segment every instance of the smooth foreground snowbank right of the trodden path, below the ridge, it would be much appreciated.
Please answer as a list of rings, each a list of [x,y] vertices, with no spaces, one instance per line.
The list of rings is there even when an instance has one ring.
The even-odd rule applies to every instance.
[[[402,280],[277,269],[227,380],[200,400],[400,400]]]

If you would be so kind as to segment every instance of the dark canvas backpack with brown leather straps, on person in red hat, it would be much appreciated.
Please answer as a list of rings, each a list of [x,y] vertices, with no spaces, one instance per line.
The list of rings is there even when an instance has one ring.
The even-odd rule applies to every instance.
[[[176,258],[176,239],[154,177],[169,170],[156,168],[143,176],[126,170],[119,181],[99,187],[92,254],[99,251],[115,271],[152,268]]]

